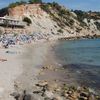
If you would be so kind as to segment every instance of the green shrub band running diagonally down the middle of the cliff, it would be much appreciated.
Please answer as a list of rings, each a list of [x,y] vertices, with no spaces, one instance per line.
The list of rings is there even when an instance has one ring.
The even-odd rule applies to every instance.
[[[51,18],[57,22],[58,26],[64,28],[66,25],[72,27],[74,24],[73,15],[70,10],[60,6],[58,3],[47,3],[41,5],[41,8],[50,14]]]

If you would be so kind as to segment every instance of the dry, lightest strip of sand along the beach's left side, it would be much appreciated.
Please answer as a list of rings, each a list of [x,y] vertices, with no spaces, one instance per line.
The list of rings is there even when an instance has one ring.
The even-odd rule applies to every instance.
[[[9,51],[9,53],[7,53]],[[9,49],[0,48],[0,99],[13,100],[10,93],[14,91],[14,80],[22,73],[22,64],[19,59],[22,53],[20,46]]]

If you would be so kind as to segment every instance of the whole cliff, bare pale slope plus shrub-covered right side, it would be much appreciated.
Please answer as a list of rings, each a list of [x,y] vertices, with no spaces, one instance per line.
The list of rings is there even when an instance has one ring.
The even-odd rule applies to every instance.
[[[23,21],[27,18],[26,29],[39,38],[100,33],[99,14],[70,11],[57,3],[23,4],[8,8],[7,15]]]

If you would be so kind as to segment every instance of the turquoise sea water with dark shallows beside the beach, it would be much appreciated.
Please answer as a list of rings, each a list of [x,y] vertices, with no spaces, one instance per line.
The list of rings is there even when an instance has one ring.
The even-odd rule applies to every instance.
[[[100,89],[100,39],[59,41],[55,51],[79,84]]]

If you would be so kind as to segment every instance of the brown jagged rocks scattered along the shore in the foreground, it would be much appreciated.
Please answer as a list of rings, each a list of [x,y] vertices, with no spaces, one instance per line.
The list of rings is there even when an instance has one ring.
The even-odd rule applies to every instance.
[[[43,67],[42,70],[55,70]],[[52,76],[53,77],[53,76]],[[86,86],[60,84],[59,81],[42,80],[34,85],[32,92],[23,90],[11,94],[15,100],[100,100],[100,95]]]

